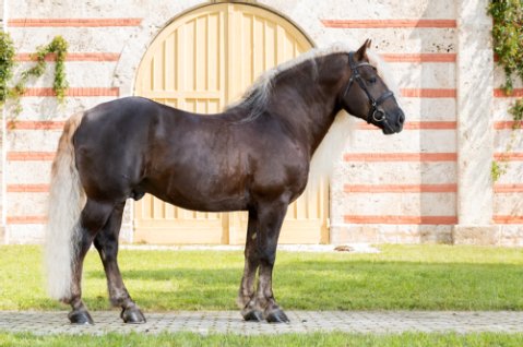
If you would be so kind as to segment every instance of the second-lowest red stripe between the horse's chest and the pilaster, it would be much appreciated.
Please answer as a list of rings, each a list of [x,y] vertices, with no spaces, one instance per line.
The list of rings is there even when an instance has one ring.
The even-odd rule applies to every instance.
[[[345,184],[346,193],[455,193],[456,184]]]

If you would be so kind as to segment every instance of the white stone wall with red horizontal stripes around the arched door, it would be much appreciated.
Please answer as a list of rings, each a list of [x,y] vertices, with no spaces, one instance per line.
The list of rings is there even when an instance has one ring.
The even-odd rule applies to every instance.
[[[23,98],[24,112],[7,141],[4,241],[41,238],[50,159],[61,121],[78,110],[132,95],[135,71],[155,35],[197,0],[8,2],[19,52],[62,35],[70,44],[66,106],[40,96],[51,69]],[[504,152],[508,105],[496,96],[487,0],[260,0],[317,46],[372,38],[392,69],[407,116],[405,130],[384,136],[359,123],[331,184],[331,242],[523,242],[523,141],[507,175],[492,183],[490,163]],[[41,22],[38,20],[49,20]],[[21,57],[23,60],[23,57]],[[29,62],[22,61],[21,68]],[[522,85],[516,85],[522,91]],[[46,122],[49,121],[50,122]],[[504,127],[504,128],[503,128]],[[123,237],[132,234],[128,211]]]

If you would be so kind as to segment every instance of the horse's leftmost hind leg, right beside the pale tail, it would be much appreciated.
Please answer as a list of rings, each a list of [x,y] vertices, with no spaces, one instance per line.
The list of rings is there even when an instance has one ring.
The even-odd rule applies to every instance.
[[[72,311],[68,318],[73,324],[93,324],[87,308],[82,301],[82,271],[85,254],[87,254],[93,239],[106,223],[112,206],[99,204],[87,200],[79,220],[79,231],[76,239],[73,239],[73,259],[71,276],[71,294],[69,298],[63,298],[63,302],[69,303]]]

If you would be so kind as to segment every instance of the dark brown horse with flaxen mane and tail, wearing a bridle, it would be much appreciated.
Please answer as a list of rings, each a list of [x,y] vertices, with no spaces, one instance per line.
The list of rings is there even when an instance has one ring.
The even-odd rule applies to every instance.
[[[272,274],[287,206],[307,186],[314,151],[341,110],[384,134],[403,129],[404,112],[370,45],[317,49],[278,65],[222,113],[126,97],[71,116],[52,163],[46,228],[49,295],[71,306],[70,322],[93,324],[81,288],[93,243],[123,322],[146,321],[117,261],[126,201],[145,193],[193,211],[247,211],[240,313],[288,322]]]

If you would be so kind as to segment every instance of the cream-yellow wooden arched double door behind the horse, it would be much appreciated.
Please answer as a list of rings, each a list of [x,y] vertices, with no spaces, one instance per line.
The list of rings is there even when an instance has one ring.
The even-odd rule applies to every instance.
[[[218,3],[190,11],[154,39],[140,63],[135,95],[214,113],[239,99],[265,70],[312,47],[292,23],[255,5]],[[289,206],[281,242],[329,241],[328,189]],[[200,213],[146,195],[134,205],[134,241],[243,243],[246,213]]]

